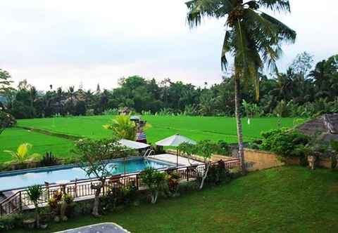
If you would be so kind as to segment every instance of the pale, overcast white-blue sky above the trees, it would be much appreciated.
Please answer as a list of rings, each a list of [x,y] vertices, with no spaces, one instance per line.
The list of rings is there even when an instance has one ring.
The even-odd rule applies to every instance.
[[[85,89],[115,88],[131,75],[204,86],[222,81],[225,19],[186,22],[182,0],[1,0],[0,69],[15,85],[27,81]],[[297,32],[283,46],[284,71],[303,51],[315,62],[338,53],[338,1],[290,0],[291,14],[275,14]]]

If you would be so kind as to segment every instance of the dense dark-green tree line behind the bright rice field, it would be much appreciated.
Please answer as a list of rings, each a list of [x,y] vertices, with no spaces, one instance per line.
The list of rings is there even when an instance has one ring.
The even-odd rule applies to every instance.
[[[296,56],[287,72],[273,76],[259,74],[259,100],[250,81],[241,80],[242,113],[248,116],[313,116],[320,112],[338,111],[338,55],[318,62],[312,55]],[[196,87],[182,81],[144,79],[129,76],[119,80],[118,88],[95,91],[54,88],[39,91],[27,80],[8,88],[11,76],[0,71],[3,88],[1,107],[16,119],[51,116],[117,114],[129,107],[144,114],[186,114],[234,116],[234,79],[223,76],[220,84]],[[6,78],[6,79],[5,79]],[[4,88],[5,81],[7,88]]]

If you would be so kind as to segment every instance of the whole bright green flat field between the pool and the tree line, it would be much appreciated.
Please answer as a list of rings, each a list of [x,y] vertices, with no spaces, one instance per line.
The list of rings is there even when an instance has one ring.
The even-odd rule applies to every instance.
[[[25,119],[19,120],[18,126],[30,127],[87,138],[105,138],[111,136],[111,131],[102,126],[108,124],[114,116],[77,116],[67,118]],[[236,121],[230,117],[203,116],[144,116],[151,124],[146,131],[149,142],[154,143],[175,133],[180,133],[194,140],[225,140],[237,142]],[[293,126],[294,119],[284,118],[280,126]],[[251,119],[251,124],[243,120],[244,140],[251,141],[260,137],[261,131],[277,128],[278,119],[275,117]],[[20,143],[30,142],[32,152],[54,152],[59,157],[69,157],[72,143],[70,140],[53,135],[44,135],[11,128],[0,135],[0,162],[10,159],[4,149],[16,149]]]

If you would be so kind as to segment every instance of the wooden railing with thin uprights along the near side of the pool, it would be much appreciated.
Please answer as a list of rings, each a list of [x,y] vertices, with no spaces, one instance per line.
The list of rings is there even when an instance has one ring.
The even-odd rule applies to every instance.
[[[239,159],[233,159],[230,161],[225,161],[225,168],[237,168],[239,167]],[[198,175],[204,174],[205,165],[192,165],[192,166],[180,166],[177,168],[165,168],[158,169],[162,172],[177,171],[180,174],[180,180],[193,180],[197,178]],[[105,195],[108,190],[112,187],[123,187],[124,185],[130,184],[132,182],[137,190],[142,185],[142,180],[139,178],[140,173],[129,173],[125,175],[114,175],[106,179],[106,183],[101,189],[101,195]],[[45,185],[43,187],[44,194],[39,200],[39,204],[46,205],[51,197],[54,197],[56,192],[63,192],[70,194],[75,198],[75,201],[80,201],[82,199],[92,199],[94,198],[94,189],[91,188],[92,184],[100,182],[97,179],[92,180],[75,180],[74,182],[69,182],[65,185]],[[8,215],[11,213],[18,213],[27,208],[34,208],[32,201],[30,201],[27,189],[20,190],[15,192],[11,197],[8,197],[0,203],[0,216]]]

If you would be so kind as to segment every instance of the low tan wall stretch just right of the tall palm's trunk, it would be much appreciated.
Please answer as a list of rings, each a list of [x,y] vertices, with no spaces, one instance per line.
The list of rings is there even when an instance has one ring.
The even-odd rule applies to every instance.
[[[273,168],[285,164],[277,158],[277,155],[256,149],[244,149],[244,161],[248,171]]]

